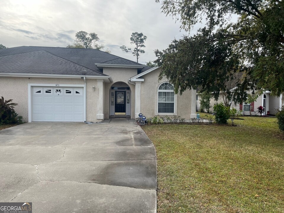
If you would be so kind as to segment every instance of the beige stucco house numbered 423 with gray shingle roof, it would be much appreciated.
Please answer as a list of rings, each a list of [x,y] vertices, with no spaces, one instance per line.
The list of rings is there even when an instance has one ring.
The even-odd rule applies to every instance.
[[[96,49],[21,46],[0,50],[0,96],[26,122],[101,122],[110,117],[196,117],[196,91],[174,94],[159,67]]]

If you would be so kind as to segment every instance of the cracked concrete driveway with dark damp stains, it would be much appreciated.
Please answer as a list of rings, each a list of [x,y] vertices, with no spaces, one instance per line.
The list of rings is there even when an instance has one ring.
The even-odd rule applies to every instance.
[[[33,212],[156,212],[156,153],[134,120],[0,130],[0,202]]]

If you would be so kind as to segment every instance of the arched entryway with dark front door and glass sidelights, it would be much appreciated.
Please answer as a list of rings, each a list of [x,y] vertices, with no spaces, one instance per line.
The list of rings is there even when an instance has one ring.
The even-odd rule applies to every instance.
[[[127,83],[118,81],[109,89],[109,115],[114,117],[131,116],[131,90]]]

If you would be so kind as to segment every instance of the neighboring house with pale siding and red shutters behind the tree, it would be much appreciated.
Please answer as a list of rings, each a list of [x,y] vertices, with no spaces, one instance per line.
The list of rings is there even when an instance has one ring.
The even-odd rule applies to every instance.
[[[212,97],[210,99],[210,109],[209,109],[210,112],[213,111],[214,104],[219,104],[219,103],[224,104],[222,95],[219,96],[218,101],[216,101]],[[237,110],[243,110],[243,114],[246,114],[246,115],[249,115],[250,110],[251,110],[251,114],[255,115],[255,113],[257,112],[257,107],[259,107],[259,106],[264,107],[263,115],[266,115],[267,111],[269,111],[269,114],[275,115],[276,112],[277,112],[277,109],[279,109],[281,107],[281,99],[280,99],[280,97],[270,95],[269,91],[265,91],[256,99],[256,101],[253,101],[251,103],[241,103],[241,104],[237,104],[237,105],[232,103],[231,109],[235,108]],[[196,94],[196,110],[197,111],[200,110],[199,94]]]

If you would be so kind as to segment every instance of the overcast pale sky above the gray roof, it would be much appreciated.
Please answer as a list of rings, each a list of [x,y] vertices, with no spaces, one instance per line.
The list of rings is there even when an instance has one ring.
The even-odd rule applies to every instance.
[[[66,47],[83,30],[97,33],[99,43],[112,54],[135,61],[119,47],[133,48],[130,36],[138,32],[148,37],[139,59],[146,64],[155,59],[154,49],[164,49],[186,34],[160,8],[155,0],[5,0],[0,7],[0,43]]]

